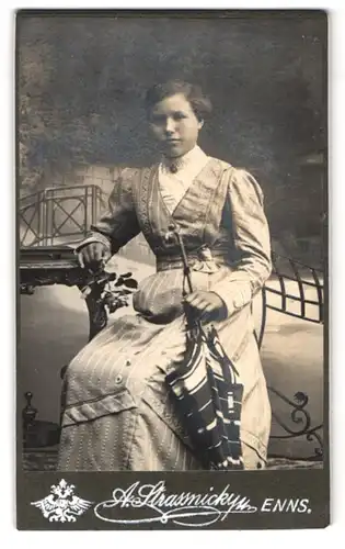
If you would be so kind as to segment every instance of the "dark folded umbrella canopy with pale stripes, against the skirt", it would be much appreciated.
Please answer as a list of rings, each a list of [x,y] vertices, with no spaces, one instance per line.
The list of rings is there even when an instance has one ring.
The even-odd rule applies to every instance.
[[[243,385],[214,326],[187,332],[183,363],[166,376],[177,413],[207,469],[243,469],[240,419]]]

